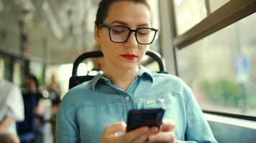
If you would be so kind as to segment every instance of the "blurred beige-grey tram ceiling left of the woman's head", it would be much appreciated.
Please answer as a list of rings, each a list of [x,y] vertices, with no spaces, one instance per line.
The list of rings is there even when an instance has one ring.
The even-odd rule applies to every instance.
[[[93,45],[99,0],[0,0],[0,52],[72,63]],[[61,55],[61,56],[60,56]]]

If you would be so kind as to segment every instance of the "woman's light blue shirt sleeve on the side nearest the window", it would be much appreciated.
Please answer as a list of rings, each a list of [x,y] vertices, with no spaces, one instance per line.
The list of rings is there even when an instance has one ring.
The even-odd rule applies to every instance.
[[[217,142],[211,132],[208,122],[204,119],[204,114],[196,102],[196,98],[190,88],[187,89],[186,117],[187,129],[186,140],[194,142]]]

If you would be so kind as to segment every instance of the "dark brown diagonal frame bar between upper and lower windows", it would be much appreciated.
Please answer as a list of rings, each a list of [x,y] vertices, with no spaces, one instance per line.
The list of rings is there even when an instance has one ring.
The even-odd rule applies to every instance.
[[[173,3],[173,0],[171,0],[171,3]],[[174,34],[173,46],[177,49],[183,49],[185,46],[193,44],[255,12],[256,0],[230,0],[184,34],[180,36]],[[174,14],[174,11],[172,13]],[[172,20],[175,21],[175,19]]]

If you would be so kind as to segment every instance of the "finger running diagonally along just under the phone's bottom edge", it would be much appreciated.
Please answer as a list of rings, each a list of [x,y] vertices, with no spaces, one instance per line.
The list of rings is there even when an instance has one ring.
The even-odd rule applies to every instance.
[[[146,134],[149,132],[148,127],[140,127],[138,129],[134,129],[130,132],[127,132],[126,134],[122,135],[122,140],[124,142],[132,142],[134,139],[137,139],[138,137],[141,137],[143,134]]]

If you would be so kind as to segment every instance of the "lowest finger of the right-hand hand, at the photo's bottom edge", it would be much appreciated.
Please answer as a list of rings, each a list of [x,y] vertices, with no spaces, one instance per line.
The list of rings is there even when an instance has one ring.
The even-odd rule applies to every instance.
[[[150,142],[174,142],[175,134],[173,132],[160,132],[158,134],[152,134],[149,137]]]

